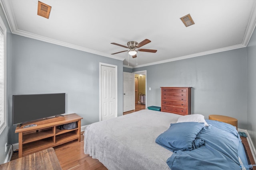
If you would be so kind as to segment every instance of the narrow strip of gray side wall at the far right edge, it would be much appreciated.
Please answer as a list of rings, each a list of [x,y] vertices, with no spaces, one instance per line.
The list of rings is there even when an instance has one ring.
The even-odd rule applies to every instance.
[[[247,47],[247,67],[248,67],[248,125],[247,129],[254,146],[256,146],[256,32],[254,31]]]

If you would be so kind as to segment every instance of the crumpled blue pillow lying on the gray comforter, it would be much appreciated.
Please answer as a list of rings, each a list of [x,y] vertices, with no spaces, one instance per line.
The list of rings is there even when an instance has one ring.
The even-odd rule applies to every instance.
[[[193,150],[204,145],[204,141],[195,141],[204,123],[171,123],[169,129],[156,138],[156,143],[174,152],[175,150]],[[196,146],[195,146],[196,143]]]

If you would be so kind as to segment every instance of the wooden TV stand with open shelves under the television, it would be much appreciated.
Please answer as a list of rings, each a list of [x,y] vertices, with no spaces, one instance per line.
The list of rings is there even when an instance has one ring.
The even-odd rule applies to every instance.
[[[27,122],[21,127],[20,125],[17,125],[15,133],[19,133],[19,158],[76,139],[80,142],[81,119],[83,118],[76,113],[72,113],[64,116]],[[72,122],[77,122],[78,127],[76,129],[58,129],[59,125]],[[30,124],[36,124],[37,126],[23,128],[25,125]]]

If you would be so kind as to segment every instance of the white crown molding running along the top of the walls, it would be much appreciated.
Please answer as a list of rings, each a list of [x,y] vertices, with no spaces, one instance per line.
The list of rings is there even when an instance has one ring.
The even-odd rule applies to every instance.
[[[106,53],[102,53],[102,52],[99,52],[99,51],[95,51],[95,50],[92,50],[92,49],[80,47],[80,46],[77,46],[77,45],[72,45],[72,44],[69,44],[69,43],[62,42],[62,41],[57,41],[55,39],[50,39],[48,37],[43,37],[43,36],[39,36],[39,35],[36,35],[36,34],[28,33],[26,31],[18,30],[16,20],[15,20],[15,17],[14,17],[14,12],[13,12],[12,5],[11,5],[11,1],[9,1],[9,0],[0,0],[0,4],[3,7],[4,14],[5,14],[6,19],[8,21],[10,30],[14,34],[21,35],[21,36],[24,36],[24,37],[29,37],[29,38],[32,38],[32,39],[37,39],[37,40],[40,40],[40,41],[45,41],[45,42],[56,44],[56,45],[61,45],[61,46],[64,46],[64,47],[69,47],[69,48],[72,48],[72,49],[77,49],[77,50],[80,50],[80,51],[85,51],[85,52],[88,52],[88,53],[93,53],[93,54],[104,56],[104,57],[109,57],[109,58],[112,58],[112,59],[117,59],[117,60],[124,61],[124,58],[122,58],[122,57],[116,57],[116,56],[109,55],[109,54],[106,54]],[[150,65],[155,65],[155,64],[168,63],[168,62],[172,62],[172,61],[178,61],[178,60],[182,60],[182,59],[189,59],[189,58],[193,58],[193,57],[199,57],[199,56],[203,56],[203,55],[209,55],[209,54],[213,54],[213,53],[219,53],[219,52],[223,52],[223,51],[229,51],[229,50],[233,50],[233,49],[239,49],[239,48],[247,47],[247,45],[250,41],[250,37],[252,36],[252,33],[254,32],[255,26],[256,26],[256,1],[254,1],[254,6],[252,8],[252,13],[251,13],[251,16],[250,16],[250,21],[248,23],[248,26],[247,26],[246,33],[244,35],[244,39],[242,41],[242,44],[240,44],[240,45],[224,47],[224,48],[221,48],[221,49],[205,51],[205,52],[202,52],[202,53],[196,53],[196,54],[192,54],[192,55],[176,57],[176,58],[173,58],[173,59],[167,59],[167,60],[157,61],[157,62],[153,62],[153,63],[141,64],[141,65],[136,65],[136,66],[127,66],[127,65],[123,65],[123,66],[127,67],[127,68],[139,68],[139,67],[143,67],[143,66],[150,66]]]

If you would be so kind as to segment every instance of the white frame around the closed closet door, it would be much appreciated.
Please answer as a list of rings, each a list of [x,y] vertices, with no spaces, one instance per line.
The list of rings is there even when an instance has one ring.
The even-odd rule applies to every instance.
[[[99,120],[100,121],[102,121],[102,116],[101,116],[101,102],[102,102],[102,100],[101,100],[101,66],[108,66],[108,67],[113,67],[113,68],[115,68],[115,72],[116,72],[116,74],[115,74],[115,80],[116,80],[116,97],[115,97],[115,103],[116,103],[116,108],[115,108],[115,110],[116,110],[116,117],[117,117],[117,115],[118,115],[118,113],[117,113],[117,110],[118,110],[118,100],[117,100],[117,96],[118,96],[118,86],[117,86],[117,82],[118,82],[118,77],[117,77],[117,65],[112,65],[112,64],[106,64],[106,63],[99,63],[100,64],[100,72],[99,72],[99,78],[100,78],[100,80],[99,80],[99,92],[100,92],[100,111],[99,111],[99,113],[100,113],[100,116],[99,116]]]

